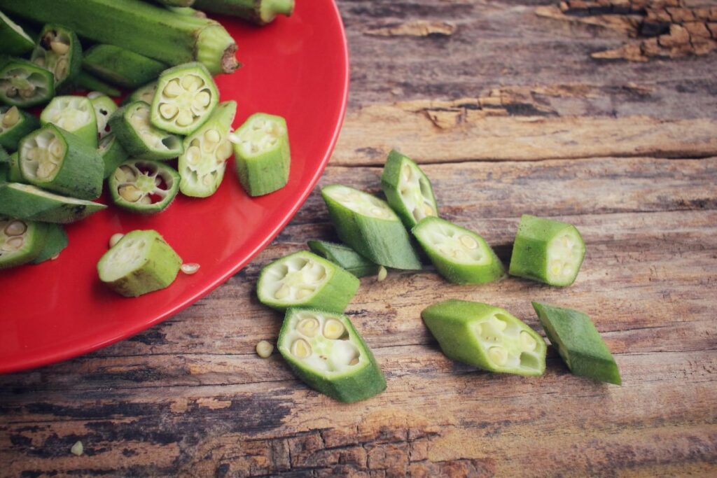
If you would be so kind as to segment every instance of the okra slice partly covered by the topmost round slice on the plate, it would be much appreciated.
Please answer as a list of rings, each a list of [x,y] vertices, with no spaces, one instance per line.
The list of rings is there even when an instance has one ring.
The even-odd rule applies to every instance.
[[[110,128],[127,153],[139,159],[161,161],[184,152],[181,138],[156,128],[149,121],[149,105],[131,102],[110,117]]]

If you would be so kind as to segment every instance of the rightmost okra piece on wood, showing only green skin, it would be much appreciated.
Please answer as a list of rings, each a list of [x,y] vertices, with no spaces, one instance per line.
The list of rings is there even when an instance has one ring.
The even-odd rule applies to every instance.
[[[533,309],[571,373],[622,385],[617,363],[587,314],[540,302]]]

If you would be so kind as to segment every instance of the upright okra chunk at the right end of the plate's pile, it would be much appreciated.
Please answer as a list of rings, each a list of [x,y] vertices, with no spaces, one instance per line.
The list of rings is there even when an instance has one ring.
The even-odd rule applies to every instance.
[[[247,194],[262,196],[286,186],[291,153],[284,118],[255,113],[233,138],[237,176]]]

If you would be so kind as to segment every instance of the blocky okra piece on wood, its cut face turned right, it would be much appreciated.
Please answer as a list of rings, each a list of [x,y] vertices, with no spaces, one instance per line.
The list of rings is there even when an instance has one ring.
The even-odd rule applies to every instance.
[[[575,282],[584,257],[585,243],[575,226],[523,214],[508,274],[566,287]]]

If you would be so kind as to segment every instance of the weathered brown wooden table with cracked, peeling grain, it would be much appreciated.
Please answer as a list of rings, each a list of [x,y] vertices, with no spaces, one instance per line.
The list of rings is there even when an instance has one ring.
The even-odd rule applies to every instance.
[[[254,352],[281,320],[255,297],[262,265],[333,238],[314,192],[171,320],[0,377],[0,475],[717,476],[717,3],[700,1],[339,1],[351,99],[321,184],[377,192],[400,148],[503,262],[521,214],[576,224],[576,283],[365,278],[348,314],[388,389],[336,403]],[[538,330],[531,300],[584,310],[624,385],[571,376],[552,348],[541,378],[453,363],[419,316],[448,297]]]

